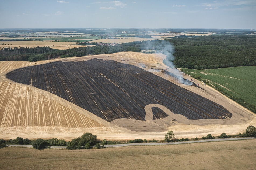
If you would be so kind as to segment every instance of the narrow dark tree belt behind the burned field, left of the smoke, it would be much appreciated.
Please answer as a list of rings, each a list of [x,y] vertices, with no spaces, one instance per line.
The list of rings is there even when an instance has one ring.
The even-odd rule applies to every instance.
[[[97,45],[93,47],[79,47],[66,50],[56,50],[49,47],[14,47],[2,48],[0,50],[0,61],[39,61],[49,60],[60,56],[68,55],[69,57],[81,57],[86,55],[110,54],[121,51],[139,52],[138,47],[129,46],[127,44],[117,44],[115,46]]]

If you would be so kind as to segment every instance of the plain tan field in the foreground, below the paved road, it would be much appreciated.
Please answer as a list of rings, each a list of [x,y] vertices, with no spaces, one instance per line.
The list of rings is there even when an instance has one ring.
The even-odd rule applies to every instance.
[[[256,139],[90,150],[7,147],[1,169],[255,169]]]

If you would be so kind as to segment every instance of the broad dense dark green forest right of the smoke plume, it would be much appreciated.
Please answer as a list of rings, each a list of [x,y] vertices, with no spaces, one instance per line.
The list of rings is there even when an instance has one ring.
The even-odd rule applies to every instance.
[[[213,69],[256,64],[256,36],[223,35],[176,38],[174,64],[178,68]]]

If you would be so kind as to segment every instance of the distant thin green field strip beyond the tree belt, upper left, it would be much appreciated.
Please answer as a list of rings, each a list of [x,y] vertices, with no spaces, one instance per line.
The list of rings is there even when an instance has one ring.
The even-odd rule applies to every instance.
[[[86,42],[95,39],[100,39],[98,36],[86,36],[86,37],[49,37],[49,38],[40,38],[44,41],[46,40],[57,40],[57,41],[79,41],[79,42]]]

